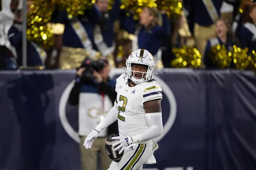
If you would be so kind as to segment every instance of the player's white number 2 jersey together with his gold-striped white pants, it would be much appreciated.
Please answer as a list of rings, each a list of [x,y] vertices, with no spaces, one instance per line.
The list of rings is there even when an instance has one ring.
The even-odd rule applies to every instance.
[[[118,105],[118,127],[122,136],[135,136],[149,128],[143,103],[162,99],[162,88],[154,81],[129,87],[128,77],[122,74],[116,79],[116,102]],[[143,164],[154,164],[154,150],[158,148],[153,139],[134,143],[125,148],[120,162],[112,162],[108,170],[141,170]]]

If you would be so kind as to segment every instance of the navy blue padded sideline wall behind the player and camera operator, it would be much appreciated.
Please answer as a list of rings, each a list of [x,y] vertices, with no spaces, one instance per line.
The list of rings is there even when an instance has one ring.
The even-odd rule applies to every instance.
[[[117,77],[125,70],[115,69]],[[146,170],[255,170],[252,71],[163,69],[164,134]],[[0,170],[79,170],[75,70],[0,71]]]

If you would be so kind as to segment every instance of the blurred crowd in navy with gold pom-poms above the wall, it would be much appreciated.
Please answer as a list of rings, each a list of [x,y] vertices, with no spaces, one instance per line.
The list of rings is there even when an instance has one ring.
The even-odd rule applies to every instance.
[[[22,10],[29,12],[35,0],[27,0],[26,7],[22,1],[1,2],[0,68],[24,65]],[[176,17],[146,5],[141,11],[127,11],[120,8],[123,0],[112,1],[95,0],[92,8],[77,16],[56,8],[49,25],[53,44],[44,48],[28,40],[27,68],[78,68],[86,57],[104,57],[112,68],[122,68],[125,58],[137,48],[148,50],[157,68],[177,68],[172,64],[175,59],[191,68],[196,68],[195,63],[198,68],[239,68],[236,62],[242,56],[250,56],[256,68],[255,0],[180,0],[182,11]],[[188,48],[198,51],[192,55],[197,62],[185,62]]]

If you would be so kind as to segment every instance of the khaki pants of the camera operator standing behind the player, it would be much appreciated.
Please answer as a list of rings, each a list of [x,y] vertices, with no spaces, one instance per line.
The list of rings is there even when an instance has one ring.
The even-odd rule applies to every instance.
[[[85,149],[83,146],[86,136],[81,136],[80,153],[81,153],[81,170],[97,170],[97,156],[102,164],[102,170],[107,170],[112,162],[105,152],[105,142],[107,137],[98,137],[94,140],[90,149]]]

